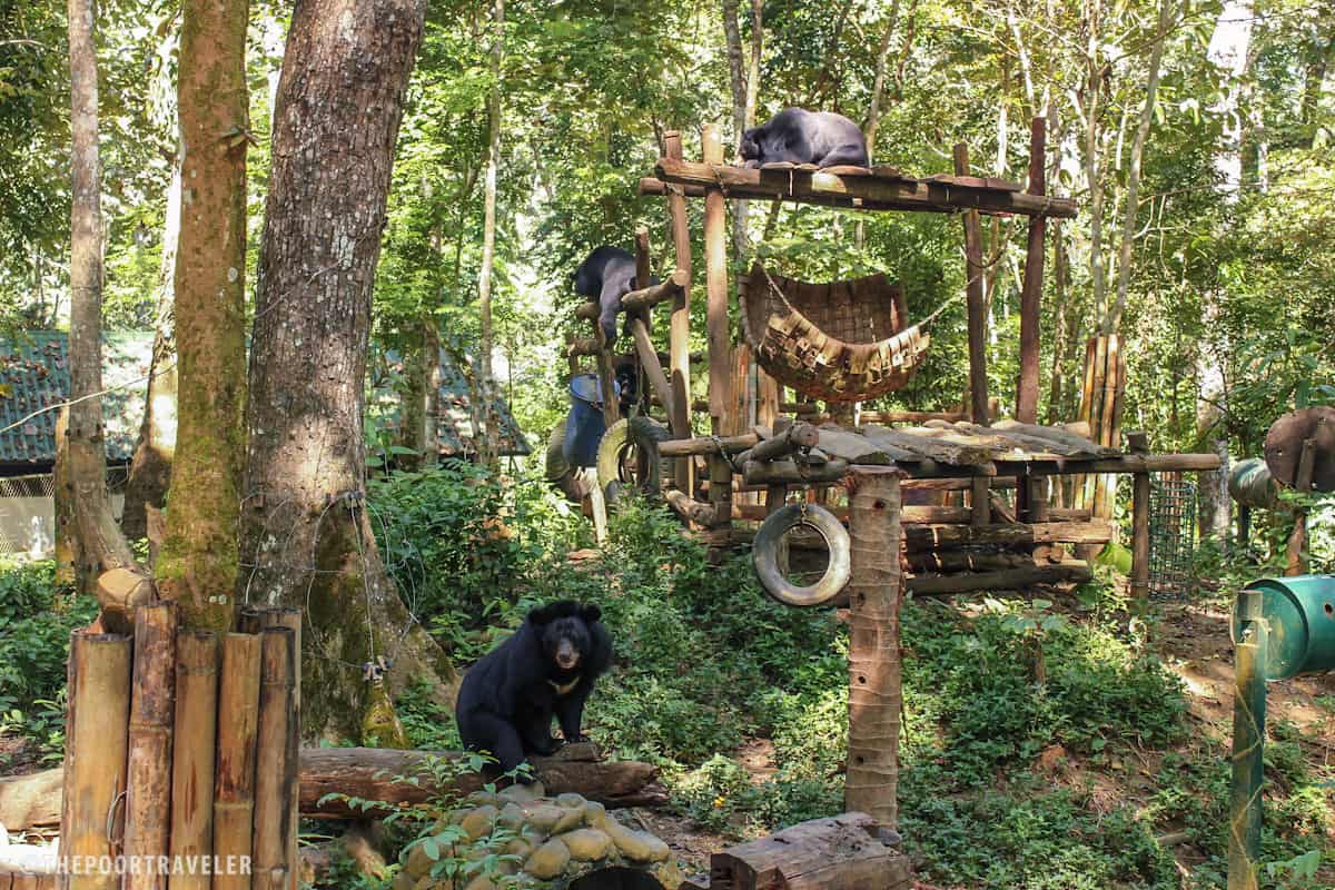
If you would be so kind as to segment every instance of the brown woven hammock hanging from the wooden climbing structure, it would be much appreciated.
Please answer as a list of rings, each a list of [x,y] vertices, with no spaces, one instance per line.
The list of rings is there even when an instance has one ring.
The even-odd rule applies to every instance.
[[[904,292],[884,275],[809,284],[756,263],[738,286],[742,334],[765,371],[826,402],[904,388],[929,343],[909,326]]]

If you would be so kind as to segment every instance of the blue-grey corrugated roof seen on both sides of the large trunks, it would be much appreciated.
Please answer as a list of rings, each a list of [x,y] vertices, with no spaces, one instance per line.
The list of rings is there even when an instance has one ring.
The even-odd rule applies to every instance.
[[[69,398],[68,348],[69,336],[64,331],[27,331],[0,338],[0,430],[4,430],[0,432],[0,467],[11,474],[25,468],[44,471],[56,460],[59,411],[29,415]],[[152,331],[117,331],[103,336],[101,384],[111,388],[101,398],[108,462],[124,463],[135,452],[152,348]],[[384,354],[384,360],[400,364],[394,352]],[[469,415],[469,387],[443,350],[441,378],[441,454],[473,455],[477,447]],[[372,386],[378,407],[384,411],[386,420],[394,423],[398,400],[383,382],[372,380]],[[505,399],[497,398],[495,411],[501,419],[501,454],[529,454],[529,443]]]

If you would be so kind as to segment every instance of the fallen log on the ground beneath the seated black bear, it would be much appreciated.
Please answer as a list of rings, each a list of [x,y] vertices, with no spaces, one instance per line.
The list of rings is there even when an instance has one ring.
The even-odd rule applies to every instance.
[[[609,807],[657,806],[668,794],[657,783],[658,767],[638,761],[597,761],[589,743],[567,745],[554,757],[534,758],[534,774],[547,794],[574,791]],[[486,782],[465,774],[441,787],[429,774],[418,785],[395,782],[411,777],[427,757],[458,758],[457,751],[398,751],[371,747],[306,747],[300,757],[302,815],[314,819],[343,819],[352,811],[343,801],[320,802],[328,794],[346,794],[366,801],[413,805],[430,801],[442,791],[469,794]],[[0,779],[0,825],[11,831],[53,830],[60,825],[60,769]],[[383,813],[382,813],[383,814]],[[376,815],[358,810],[358,818]]]

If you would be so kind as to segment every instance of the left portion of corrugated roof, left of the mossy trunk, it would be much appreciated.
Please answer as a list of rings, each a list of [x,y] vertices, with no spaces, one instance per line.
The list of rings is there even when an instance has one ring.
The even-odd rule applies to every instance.
[[[123,463],[135,452],[144,414],[144,384],[152,358],[152,331],[103,336],[101,398],[107,460]],[[64,331],[28,331],[0,338],[0,464],[41,468],[56,460],[56,415],[43,408],[69,398],[69,336]]]

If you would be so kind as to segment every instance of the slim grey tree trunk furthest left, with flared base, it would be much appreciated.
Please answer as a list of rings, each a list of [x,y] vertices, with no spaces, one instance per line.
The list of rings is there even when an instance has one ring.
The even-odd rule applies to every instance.
[[[109,568],[134,564],[111,512],[101,424],[101,181],[97,160],[97,56],[91,0],[69,0],[69,129],[73,137],[69,238],[69,399],[67,468],[56,498],[72,515],[75,576],[85,592]],[[87,398],[91,396],[91,398]],[[57,514],[60,512],[57,507]]]

